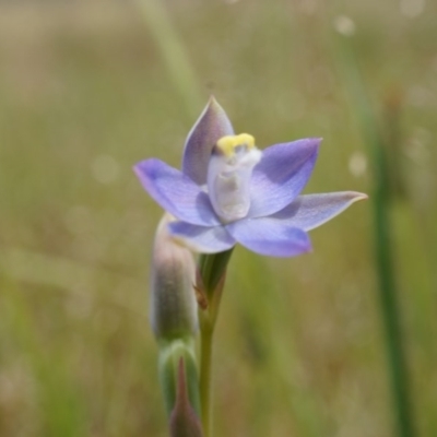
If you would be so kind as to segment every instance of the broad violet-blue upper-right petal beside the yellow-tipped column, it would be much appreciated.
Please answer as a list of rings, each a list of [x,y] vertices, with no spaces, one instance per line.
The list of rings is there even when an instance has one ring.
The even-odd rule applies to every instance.
[[[312,173],[320,141],[308,138],[263,151],[253,168],[248,217],[273,214],[297,197]]]

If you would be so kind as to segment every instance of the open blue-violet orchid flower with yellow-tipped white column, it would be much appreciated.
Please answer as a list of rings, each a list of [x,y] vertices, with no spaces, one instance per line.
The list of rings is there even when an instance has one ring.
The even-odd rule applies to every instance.
[[[308,231],[367,199],[354,191],[299,196],[321,139],[275,144],[261,151],[253,137],[236,135],[211,97],[188,134],[182,170],[151,158],[134,166],[149,194],[175,221],[170,234],[191,249],[215,253],[237,243],[272,257],[311,250]]]

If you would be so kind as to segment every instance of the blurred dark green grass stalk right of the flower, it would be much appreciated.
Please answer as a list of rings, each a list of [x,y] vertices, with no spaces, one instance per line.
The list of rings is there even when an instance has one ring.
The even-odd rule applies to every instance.
[[[374,164],[374,229],[375,261],[379,282],[379,302],[385,330],[388,369],[391,379],[393,410],[397,418],[399,437],[415,435],[413,409],[410,398],[409,373],[404,351],[404,339],[401,329],[401,315],[398,303],[398,291],[394,279],[390,203],[392,191],[389,180],[389,165],[386,144],[378,127],[370,102],[361,78],[357,60],[351,43],[343,40],[341,50],[349,91],[354,97],[358,121],[363,135],[368,144]]]

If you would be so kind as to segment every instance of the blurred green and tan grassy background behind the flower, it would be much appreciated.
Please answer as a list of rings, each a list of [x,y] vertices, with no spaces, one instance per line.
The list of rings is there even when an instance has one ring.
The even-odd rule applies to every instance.
[[[436,436],[436,16],[425,0],[0,2],[0,436],[167,435],[147,320],[162,211],[131,167],[179,166],[210,94],[260,147],[323,137],[306,192],[370,194],[310,255],[235,251],[215,435],[393,435],[345,40],[389,139],[413,412]]]

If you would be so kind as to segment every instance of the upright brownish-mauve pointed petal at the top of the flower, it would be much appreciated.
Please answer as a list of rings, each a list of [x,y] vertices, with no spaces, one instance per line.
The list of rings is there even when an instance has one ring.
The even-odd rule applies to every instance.
[[[182,173],[198,185],[206,184],[208,164],[215,143],[225,135],[234,134],[234,129],[224,109],[214,97],[188,134],[182,157]]]

